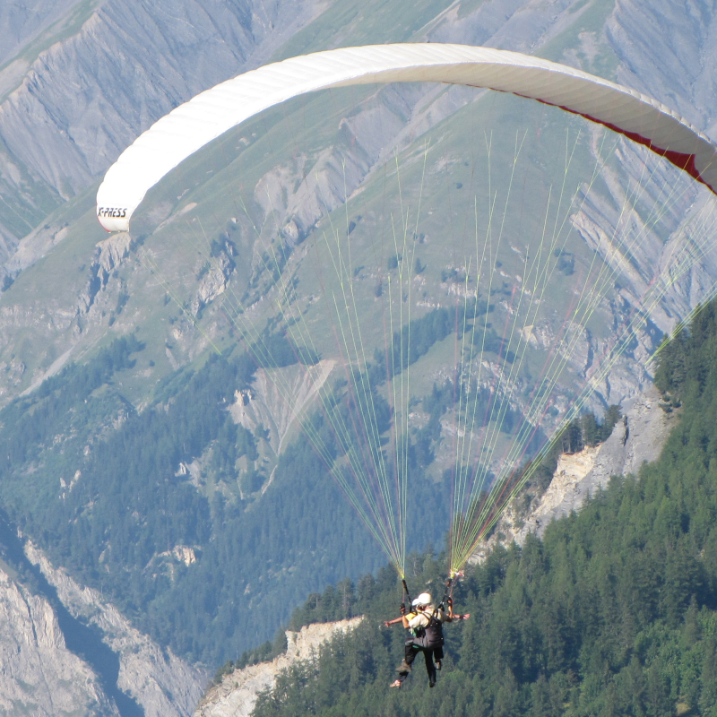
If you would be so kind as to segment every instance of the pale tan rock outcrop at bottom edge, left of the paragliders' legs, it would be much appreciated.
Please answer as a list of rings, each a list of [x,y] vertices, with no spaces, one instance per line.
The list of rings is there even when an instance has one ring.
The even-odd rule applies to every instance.
[[[363,618],[304,626],[300,632],[287,630],[287,650],[271,662],[261,662],[225,675],[211,687],[194,711],[194,717],[249,717],[256,695],[274,685],[277,674],[294,662],[308,660],[333,635],[355,629]]]

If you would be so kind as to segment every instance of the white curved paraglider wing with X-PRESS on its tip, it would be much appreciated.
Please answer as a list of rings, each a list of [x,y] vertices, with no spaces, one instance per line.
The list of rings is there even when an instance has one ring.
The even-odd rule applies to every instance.
[[[311,91],[374,82],[445,82],[537,99],[625,134],[717,188],[708,137],[661,103],[614,82],[538,57],[464,45],[340,48],[292,57],[203,91],[141,134],[108,169],[97,216],[127,231],[134,210],[162,177],[205,144],[264,109]]]

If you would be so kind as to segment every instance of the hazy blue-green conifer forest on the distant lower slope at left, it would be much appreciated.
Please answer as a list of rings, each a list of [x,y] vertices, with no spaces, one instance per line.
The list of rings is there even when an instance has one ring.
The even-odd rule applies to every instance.
[[[439,309],[411,322],[404,365],[461,327],[459,318]],[[264,340],[281,366],[315,361],[282,334]],[[117,338],[0,411],[0,507],[136,626],[213,668],[271,638],[307,594],[376,572],[384,557],[306,440],[284,449],[260,492],[269,479],[255,460],[263,436],[228,410],[262,366],[255,346],[174,372],[137,410],[122,383],[146,366],[143,350],[134,334]],[[388,404],[373,400],[387,429]],[[426,470],[454,389],[436,386],[423,401],[430,420],[409,445],[415,549],[442,540],[448,523],[447,496]],[[346,450],[320,411],[308,419],[334,454]],[[213,481],[203,490],[179,470],[200,457]],[[254,468],[241,473],[241,459]],[[175,546],[194,549],[196,562],[172,560]]]

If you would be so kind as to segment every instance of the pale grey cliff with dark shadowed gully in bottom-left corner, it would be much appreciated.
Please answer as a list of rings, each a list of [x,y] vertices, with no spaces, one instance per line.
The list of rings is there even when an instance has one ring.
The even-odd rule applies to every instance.
[[[82,590],[0,515],[0,711],[187,715],[207,674]]]

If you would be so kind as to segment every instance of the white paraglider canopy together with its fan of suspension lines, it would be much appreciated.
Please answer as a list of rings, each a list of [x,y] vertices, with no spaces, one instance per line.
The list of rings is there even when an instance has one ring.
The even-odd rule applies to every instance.
[[[410,525],[419,524],[417,515],[425,517],[424,504],[436,508],[445,498],[445,513],[436,508],[434,515],[441,529],[450,521],[450,595],[505,506],[535,471],[549,470],[552,446],[582,419],[598,387],[608,385],[611,368],[645,320],[715,246],[713,197],[705,190],[710,201],[695,203],[689,178],[714,192],[715,146],[653,99],[540,58],[460,45],[343,48],[267,65],[169,113],[109,169],[98,193],[99,220],[108,230],[129,229],[151,186],[266,108],[310,91],[376,82],[471,86],[479,91],[465,95],[487,95],[480,104],[510,108],[500,117],[495,144],[492,110],[471,108],[477,124],[460,120],[452,145],[427,141],[401,167],[398,155],[394,168],[384,162],[382,188],[373,196],[367,191],[358,198],[358,184],[370,190],[371,182],[366,176],[347,182],[346,165],[337,162],[343,176],[336,175],[342,187],[335,201],[317,179],[312,190],[321,195],[326,222],[322,226],[312,214],[304,225],[312,227],[310,236],[301,238],[294,220],[280,226],[290,213],[288,203],[283,211],[285,199],[275,203],[267,186],[249,181],[249,166],[255,173],[266,168],[256,163],[257,150],[251,164],[243,157],[242,187],[225,181],[228,175],[213,185],[228,199],[235,192],[230,205],[241,205],[246,218],[228,217],[229,204],[191,216],[197,203],[187,202],[168,228],[168,251],[176,252],[184,238],[198,267],[196,279],[206,276],[220,287],[222,315],[263,371],[263,384],[297,422],[402,578]],[[515,107],[520,110],[514,113]],[[523,112],[549,119],[525,123]],[[553,122],[558,118],[566,125],[565,155],[556,143],[562,141],[555,131],[560,123]],[[591,122],[612,132],[583,133]],[[320,131],[313,119],[303,124],[309,134]],[[578,129],[571,134],[572,125]],[[301,144],[286,126],[281,132],[297,143],[296,158]],[[585,134],[590,147],[581,140]],[[262,140],[266,149],[271,134]],[[624,145],[633,143],[641,146],[626,158]],[[286,143],[278,144],[286,158]],[[651,151],[663,160],[647,161]],[[472,168],[465,161],[471,158]],[[666,180],[668,161],[681,171],[669,172]],[[455,174],[449,162],[460,167],[450,170]],[[296,187],[308,183],[307,166],[298,162]],[[454,178],[467,186],[448,185]],[[256,221],[251,201],[249,208],[245,202],[245,182],[255,199],[259,187],[266,195],[265,202],[256,201]],[[431,183],[429,202],[423,201],[425,182]],[[444,183],[440,189],[438,182]],[[194,172],[187,184],[198,186]],[[310,204],[299,188],[293,193],[291,212]],[[212,200],[213,206],[220,201]],[[353,213],[358,203],[360,215]],[[332,216],[338,206],[343,216]],[[689,226],[675,232],[673,219],[694,206]],[[242,254],[235,253],[234,231]],[[657,251],[652,238],[660,242]],[[159,262],[143,255],[141,246],[138,254],[161,277]],[[239,255],[242,272],[235,275],[232,257]],[[660,261],[654,261],[657,255]],[[168,281],[160,278],[160,285]],[[165,298],[171,294],[169,288]],[[203,297],[206,292],[200,297],[198,291],[192,304],[172,298],[183,313],[194,307],[196,316],[188,318],[195,324]],[[686,305],[671,315],[684,315]],[[433,346],[438,353],[428,358]],[[650,353],[651,347],[648,342],[644,349]],[[429,374],[431,366],[440,371]],[[431,376],[445,383],[434,383],[433,393],[421,399]],[[298,384],[299,393],[310,397],[306,402],[297,399]],[[263,424],[259,428],[263,434]],[[450,491],[443,490],[448,483]],[[410,603],[405,581],[403,590]]]

